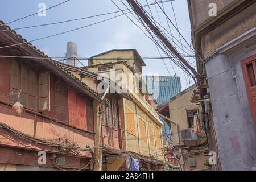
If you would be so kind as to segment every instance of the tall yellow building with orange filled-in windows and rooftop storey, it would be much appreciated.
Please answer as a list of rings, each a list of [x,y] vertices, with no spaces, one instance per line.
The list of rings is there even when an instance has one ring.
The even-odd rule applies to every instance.
[[[88,71],[121,83],[133,100],[119,100],[123,150],[164,161],[162,125],[156,114],[156,103],[147,102],[142,91],[144,61],[135,49],[111,50],[90,57]],[[123,84],[124,83],[124,84]],[[110,90],[111,92],[111,90]],[[147,169],[156,166],[142,164]]]

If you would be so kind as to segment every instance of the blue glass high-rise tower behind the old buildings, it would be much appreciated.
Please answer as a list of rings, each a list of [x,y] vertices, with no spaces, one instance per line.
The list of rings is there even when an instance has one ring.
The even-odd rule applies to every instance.
[[[144,76],[144,81],[147,84],[147,92],[153,94],[158,105],[163,104],[181,92],[180,77]],[[162,118],[160,120],[163,121],[163,144],[166,144],[167,141],[171,143],[168,138],[172,138],[170,126]]]

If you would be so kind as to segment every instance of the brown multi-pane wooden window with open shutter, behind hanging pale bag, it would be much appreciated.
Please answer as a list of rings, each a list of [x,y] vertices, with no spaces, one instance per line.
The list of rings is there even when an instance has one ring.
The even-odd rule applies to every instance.
[[[20,103],[25,108],[40,112],[49,110],[48,71],[36,73],[24,64],[12,61],[10,87],[11,102],[18,101],[18,92],[20,92]]]

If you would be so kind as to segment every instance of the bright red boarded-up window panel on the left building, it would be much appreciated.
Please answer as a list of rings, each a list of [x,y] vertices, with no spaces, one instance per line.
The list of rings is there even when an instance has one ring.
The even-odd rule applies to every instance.
[[[68,89],[69,125],[87,130],[86,99]]]

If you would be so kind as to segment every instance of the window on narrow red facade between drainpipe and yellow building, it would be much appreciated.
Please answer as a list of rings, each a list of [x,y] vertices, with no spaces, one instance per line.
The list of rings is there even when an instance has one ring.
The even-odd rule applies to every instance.
[[[102,113],[100,116],[101,121],[110,126],[118,127],[117,107],[118,107],[118,101],[114,99],[109,101],[109,107],[107,108],[105,105],[101,105],[100,107],[101,111],[104,111],[106,109],[106,111]]]

